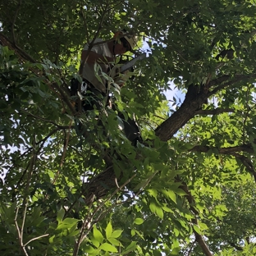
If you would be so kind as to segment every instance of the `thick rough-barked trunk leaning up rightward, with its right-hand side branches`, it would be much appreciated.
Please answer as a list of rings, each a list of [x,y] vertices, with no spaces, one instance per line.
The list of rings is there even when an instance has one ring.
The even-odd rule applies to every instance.
[[[246,75],[239,75],[236,77],[235,81],[245,79],[245,77],[248,78]],[[223,75],[218,80],[213,80],[208,83],[208,85],[213,86],[217,85],[217,83],[220,83],[222,81],[228,80],[230,78],[229,75]],[[251,78],[251,76],[250,76]],[[234,81],[234,83],[235,83]],[[174,112],[171,117],[169,117],[166,121],[163,121],[160,126],[155,130],[155,134],[162,140],[167,141],[168,139],[171,139],[173,135],[175,135],[176,131],[180,130],[182,126],[184,126],[188,121],[190,121],[191,118],[193,118],[198,111],[203,106],[203,103],[207,103],[208,99],[208,85],[190,85],[189,89],[187,91],[187,94],[185,95],[184,103],[181,104],[181,107]],[[191,149],[191,151],[199,151],[199,152],[207,152],[209,150],[208,147],[194,147],[194,149]],[[236,146],[232,147],[230,149],[218,149],[220,150],[220,153],[236,153],[239,151],[245,151],[249,153],[253,153],[254,150],[252,149],[251,145],[242,145],[242,146]],[[111,166],[111,159],[109,166]],[[97,195],[97,198],[101,198],[104,196],[104,194],[107,193],[106,187],[104,188],[102,184],[104,184],[107,181],[107,185],[109,187],[113,188],[116,186],[115,184],[115,174],[112,168],[107,168],[107,170],[103,171],[100,175],[97,176],[96,179],[93,181],[90,181],[90,184],[88,185],[86,194],[89,199],[92,198],[93,194]],[[89,203],[88,202],[88,203]]]

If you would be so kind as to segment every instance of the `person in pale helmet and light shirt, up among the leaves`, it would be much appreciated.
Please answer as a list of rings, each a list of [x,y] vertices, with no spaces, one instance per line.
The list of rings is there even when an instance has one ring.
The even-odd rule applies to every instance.
[[[129,35],[126,33],[126,30],[121,30],[114,35],[112,40],[107,42],[103,42],[102,39],[95,39],[94,46],[91,49],[89,49],[88,43],[85,44],[85,48],[81,56],[81,63],[85,63],[82,67],[82,88],[86,91],[85,95],[91,96],[89,97],[89,101],[86,100],[82,102],[82,107],[85,111],[94,109],[94,106],[98,109],[106,107],[103,106],[103,102],[106,102],[106,100],[103,101],[103,99],[109,97],[109,85],[102,74],[105,73],[109,75],[109,71],[111,71],[113,64],[116,63],[116,57],[135,48],[136,43],[137,37],[135,35]],[[98,71],[96,71],[97,68],[95,70],[95,63],[100,67]],[[115,76],[118,77],[118,75],[119,74],[117,72]],[[123,83],[118,83],[118,81],[117,84],[120,86],[123,85]],[[109,101],[107,100],[107,102]],[[118,116],[123,120],[124,132],[126,134],[126,138],[131,141],[131,144],[136,145],[137,141],[141,142],[142,139],[139,127],[135,120],[128,117],[128,120],[125,121],[121,112],[118,112]]]

